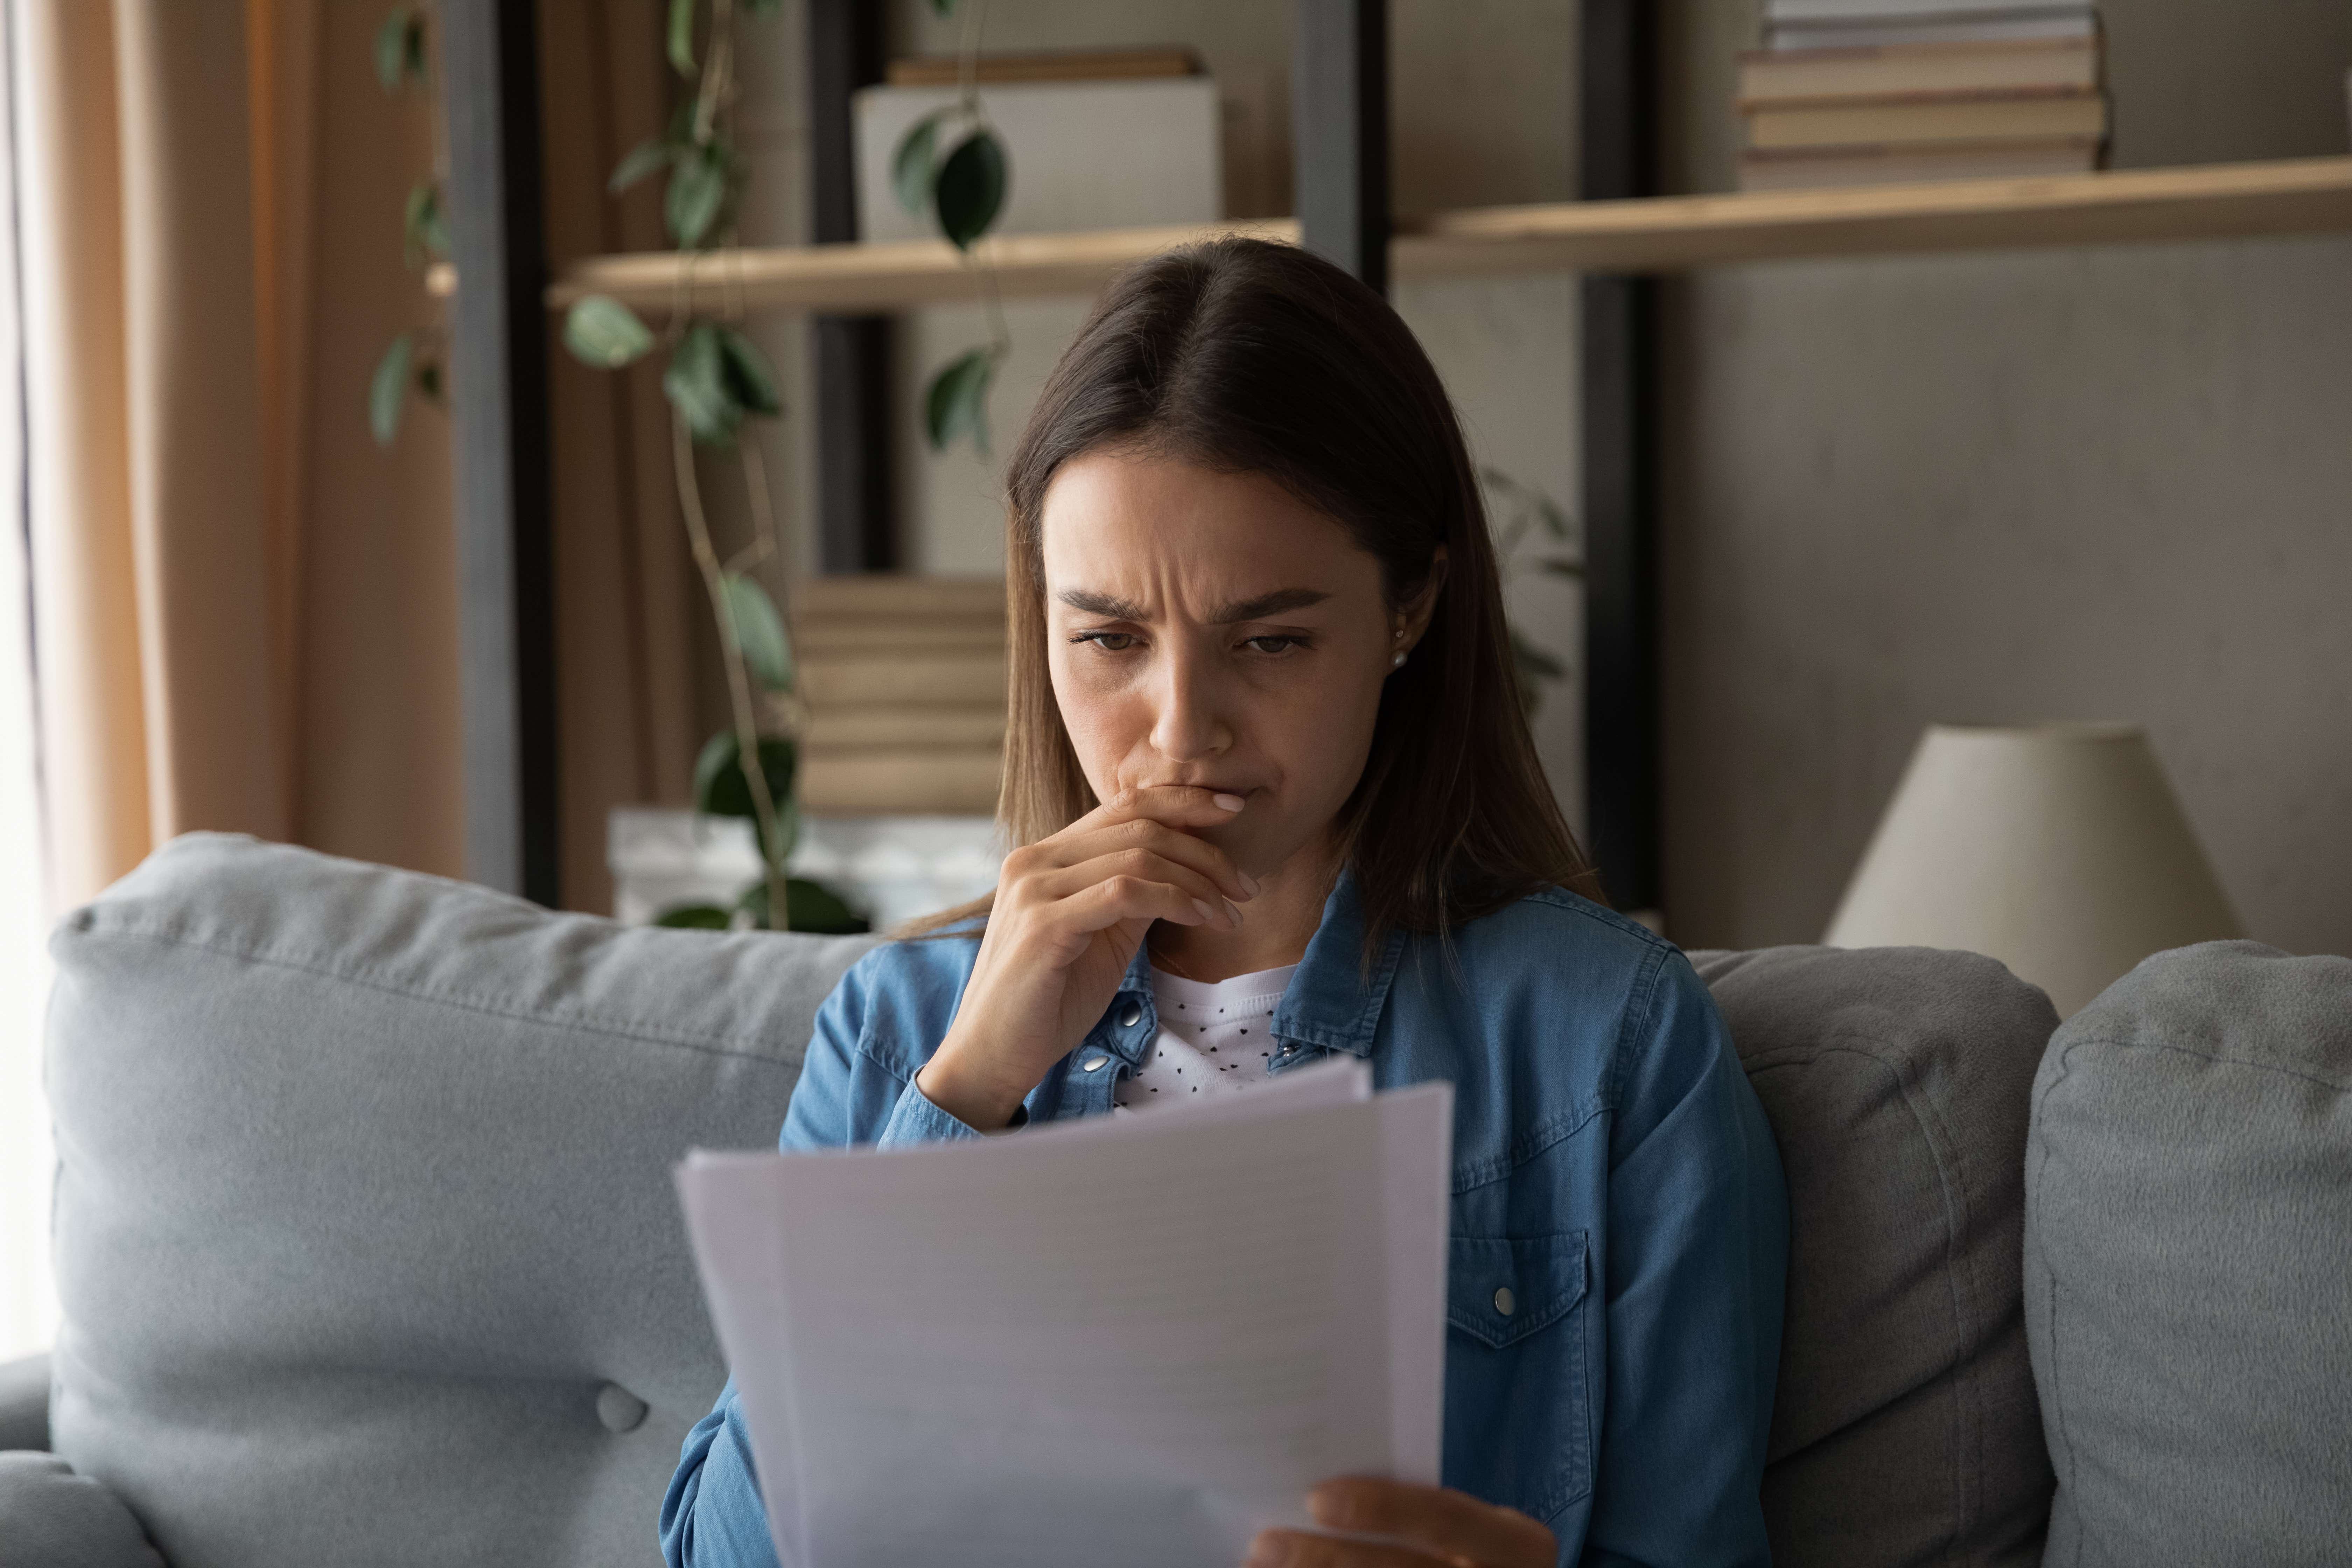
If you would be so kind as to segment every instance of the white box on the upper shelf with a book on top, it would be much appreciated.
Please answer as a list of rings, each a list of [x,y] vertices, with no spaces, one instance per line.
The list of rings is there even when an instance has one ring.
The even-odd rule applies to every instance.
[[[908,127],[955,103],[953,87],[866,87],[856,94],[858,235],[936,240],[929,214],[891,190],[891,155]],[[1004,212],[990,233],[1216,223],[1225,216],[1216,80],[997,82],[981,106],[1011,160]],[[938,153],[948,155],[950,134]]]

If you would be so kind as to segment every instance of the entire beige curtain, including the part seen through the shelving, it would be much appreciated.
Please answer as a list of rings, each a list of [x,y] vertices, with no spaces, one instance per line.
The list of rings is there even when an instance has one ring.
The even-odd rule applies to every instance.
[[[254,832],[463,875],[449,425],[367,430],[430,106],[369,0],[16,12],[33,602],[52,903],[162,839]],[[661,0],[541,7],[548,247],[663,244],[619,155],[668,118]],[[708,663],[659,367],[553,355],[562,893],[604,818],[687,799]],[[708,684],[708,682],[706,682]]]

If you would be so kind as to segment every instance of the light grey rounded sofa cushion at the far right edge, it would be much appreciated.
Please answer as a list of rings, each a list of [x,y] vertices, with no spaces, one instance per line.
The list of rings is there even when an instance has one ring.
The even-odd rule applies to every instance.
[[[2352,959],[2180,947],[2070,1018],[2025,1225],[2044,1561],[2352,1561]]]

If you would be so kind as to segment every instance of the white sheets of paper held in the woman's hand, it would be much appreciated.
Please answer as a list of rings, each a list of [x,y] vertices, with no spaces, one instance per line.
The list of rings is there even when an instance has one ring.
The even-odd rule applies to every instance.
[[[788,1568],[1232,1568],[1331,1476],[1437,1483],[1449,1084],[1362,1063],[1007,1138],[694,1152]]]

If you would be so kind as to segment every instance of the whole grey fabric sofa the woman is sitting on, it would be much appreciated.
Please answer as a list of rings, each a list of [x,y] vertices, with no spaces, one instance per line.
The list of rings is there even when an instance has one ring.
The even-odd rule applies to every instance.
[[[866,938],[195,835],[56,933],[0,1568],[654,1563],[724,1380],[670,1194]],[[1780,1563],[2352,1561],[2352,961],[1693,954],[1780,1140]],[[2056,1467],[2053,1467],[2056,1460]]]

